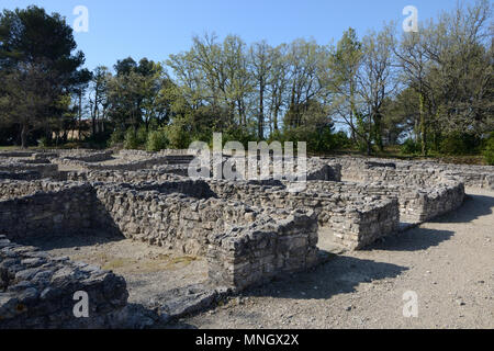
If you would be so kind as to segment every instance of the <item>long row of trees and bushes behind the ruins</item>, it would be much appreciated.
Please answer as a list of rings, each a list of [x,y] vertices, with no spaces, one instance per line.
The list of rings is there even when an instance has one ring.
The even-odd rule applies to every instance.
[[[59,14],[5,10],[0,143],[58,145],[81,132],[85,145],[159,150],[222,132],[224,143],[306,141],[310,152],[371,154],[404,137],[407,155],[480,152],[494,126],[491,10],[486,0],[458,4],[401,38],[390,25],[363,37],[349,29],[336,45],[206,34],[165,64],[127,57],[114,73],[79,68],[83,55]]]

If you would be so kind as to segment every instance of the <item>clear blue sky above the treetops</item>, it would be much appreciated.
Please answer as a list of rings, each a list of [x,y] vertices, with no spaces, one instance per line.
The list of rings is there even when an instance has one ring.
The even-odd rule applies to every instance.
[[[188,49],[192,35],[204,32],[220,38],[238,34],[247,43],[267,39],[271,45],[299,37],[336,43],[349,26],[362,36],[383,22],[401,25],[405,5],[415,5],[422,21],[454,8],[456,0],[0,0],[0,9],[30,4],[58,12],[70,24],[76,5],[88,8],[89,32],[75,37],[86,66],[93,69],[111,68],[128,56],[162,61]]]

